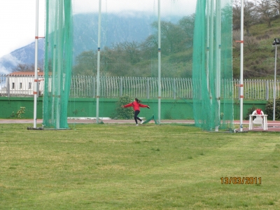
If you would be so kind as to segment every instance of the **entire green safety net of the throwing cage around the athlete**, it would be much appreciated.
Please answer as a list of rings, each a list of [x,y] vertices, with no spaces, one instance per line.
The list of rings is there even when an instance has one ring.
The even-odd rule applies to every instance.
[[[120,105],[137,97],[151,107],[139,117],[158,124],[194,115],[206,130],[232,127],[230,0],[197,0],[195,13],[186,0],[161,1],[161,16],[158,0],[121,2],[45,1],[43,126],[68,128],[67,118],[134,123]]]

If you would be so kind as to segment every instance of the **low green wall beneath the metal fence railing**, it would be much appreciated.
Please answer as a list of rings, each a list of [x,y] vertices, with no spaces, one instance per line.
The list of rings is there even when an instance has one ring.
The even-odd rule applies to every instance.
[[[116,110],[118,99],[99,99],[99,117],[111,117]],[[148,104],[151,109],[141,109],[140,117],[150,118],[153,114],[158,118],[158,99],[143,99],[143,104]],[[248,109],[256,106],[265,110],[267,101],[244,101],[243,116],[245,118]],[[34,98],[32,97],[0,97],[0,118],[11,118],[13,113],[17,113],[21,106],[25,106],[25,115],[22,118],[34,118]],[[234,118],[239,120],[240,104],[234,104]],[[223,112],[223,110],[221,110]],[[96,99],[69,99],[69,117],[96,117]],[[43,98],[37,100],[37,118],[43,118]],[[189,100],[161,100],[161,119],[193,119],[193,101]]]

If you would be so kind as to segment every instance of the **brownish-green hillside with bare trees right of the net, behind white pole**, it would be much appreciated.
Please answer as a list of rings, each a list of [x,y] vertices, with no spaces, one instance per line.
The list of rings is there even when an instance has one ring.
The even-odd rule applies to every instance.
[[[232,6],[232,52],[234,78],[239,78],[240,1]],[[280,1],[244,1],[244,78],[273,78],[274,38],[280,37]],[[279,67],[277,71],[279,73]]]

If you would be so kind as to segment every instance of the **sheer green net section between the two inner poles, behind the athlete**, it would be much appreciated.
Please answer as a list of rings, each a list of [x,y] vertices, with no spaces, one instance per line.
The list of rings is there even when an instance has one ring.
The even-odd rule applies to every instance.
[[[127,119],[134,123],[133,111],[127,117],[123,114],[124,110],[119,109],[118,103],[115,106],[108,103],[107,95],[116,87],[119,87],[115,94],[117,102],[132,99],[125,103],[128,104],[137,97],[143,104],[151,106],[151,109],[141,109],[139,117],[147,119],[154,114],[158,118],[158,85],[148,95],[148,90],[145,90],[147,82],[143,78],[153,77],[155,83],[158,81],[158,1],[127,1],[129,6],[120,4],[118,8],[113,1],[106,2],[106,7],[102,5],[99,118]],[[136,8],[150,12],[146,17],[146,13]],[[139,18],[140,15],[142,18]],[[113,19],[118,20],[116,24]],[[139,21],[140,19],[145,22]],[[112,34],[116,34],[115,38],[112,38]],[[96,75],[95,69],[94,74]],[[113,84],[112,78],[121,79]],[[148,85],[151,88],[151,84]],[[110,106],[113,107],[111,114],[108,112]]]

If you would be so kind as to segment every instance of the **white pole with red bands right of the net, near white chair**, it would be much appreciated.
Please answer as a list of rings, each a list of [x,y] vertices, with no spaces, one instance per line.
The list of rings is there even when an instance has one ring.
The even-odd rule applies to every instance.
[[[244,0],[241,0],[241,29],[240,29],[240,124],[239,130],[243,132],[243,98],[244,98],[244,90],[243,90],[243,41],[244,38]]]

